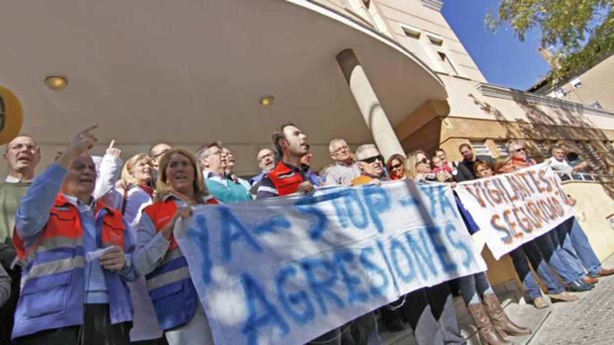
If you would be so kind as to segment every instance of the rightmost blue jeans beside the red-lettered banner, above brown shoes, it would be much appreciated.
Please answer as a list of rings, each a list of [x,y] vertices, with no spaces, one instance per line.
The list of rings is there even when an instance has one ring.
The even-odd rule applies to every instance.
[[[570,257],[579,260],[589,275],[596,275],[602,270],[601,262],[593,251],[586,233],[575,217],[567,219],[556,227],[559,243]]]

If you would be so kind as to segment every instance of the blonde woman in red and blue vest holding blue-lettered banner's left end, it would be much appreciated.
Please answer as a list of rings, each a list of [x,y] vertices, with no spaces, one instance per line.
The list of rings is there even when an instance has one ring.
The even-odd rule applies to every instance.
[[[205,188],[195,157],[179,148],[165,153],[155,199],[144,208],[137,226],[134,266],[146,275],[158,324],[171,345],[213,344],[187,261],[173,237],[175,221],[191,216],[190,207],[205,204],[217,200]]]

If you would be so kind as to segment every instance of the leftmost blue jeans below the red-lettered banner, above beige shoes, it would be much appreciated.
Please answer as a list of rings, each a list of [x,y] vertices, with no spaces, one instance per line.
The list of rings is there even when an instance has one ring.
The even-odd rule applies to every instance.
[[[520,248],[516,248],[515,250],[518,249]],[[512,255],[514,266],[516,267],[516,272],[518,272],[520,279],[525,277],[523,284],[527,291],[529,291],[530,297],[535,299],[537,297],[541,297],[542,293],[537,285],[537,282],[530,274],[529,266],[525,265],[526,258],[529,258],[529,262],[535,270],[535,273],[537,273],[537,276],[542,279],[543,284],[545,284],[546,289],[548,290],[548,294],[560,294],[561,292],[565,291],[565,287],[561,285],[559,279],[554,276],[554,273],[550,270],[550,267],[548,267],[546,260],[543,259],[542,253],[540,252],[537,243],[535,243],[535,240],[524,243],[521,251],[512,251],[510,252],[510,255]],[[518,264],[516,263],[516,259],[518,259]]]

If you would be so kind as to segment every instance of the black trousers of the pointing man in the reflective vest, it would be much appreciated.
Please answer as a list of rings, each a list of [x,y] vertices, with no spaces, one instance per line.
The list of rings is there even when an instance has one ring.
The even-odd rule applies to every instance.
[[[132,322],[111,324],[108,304],[85,305],[84,324],[15,339],[17,345],[130,345]]]

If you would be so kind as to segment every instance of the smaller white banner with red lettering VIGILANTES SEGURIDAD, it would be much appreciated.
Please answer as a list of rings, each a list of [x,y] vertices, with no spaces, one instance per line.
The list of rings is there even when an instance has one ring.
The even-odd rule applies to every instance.
[[[573,216],[561,180],[547,163],[462,182],[456,192],[497,260]]]

